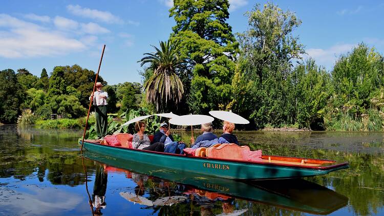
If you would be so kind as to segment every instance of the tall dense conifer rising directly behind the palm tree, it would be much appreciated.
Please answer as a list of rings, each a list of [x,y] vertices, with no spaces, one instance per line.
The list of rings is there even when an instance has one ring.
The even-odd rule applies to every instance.
[[[169,10],[176,21],[171,37],[179,41],[180,57],[185,59],[186,70],[180,77],[195,113],[224,108],[231,100],[239,45],[226,23],[228,7],[227,0],[177,0]]]

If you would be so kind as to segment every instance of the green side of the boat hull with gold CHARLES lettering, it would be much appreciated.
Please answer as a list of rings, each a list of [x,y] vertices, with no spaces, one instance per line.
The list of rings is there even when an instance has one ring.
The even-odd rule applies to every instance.
[[[144,164],[156,164],[157,166],[164,168],[238,180],[300,178],[324,175],[335,170],[348,168],[348,163],[317,169],[267,163],[242,162],[238,160],[187,157],[183,155],[101,145],[87,141],[84,141],[83,148],[116,159],[137,161]]]

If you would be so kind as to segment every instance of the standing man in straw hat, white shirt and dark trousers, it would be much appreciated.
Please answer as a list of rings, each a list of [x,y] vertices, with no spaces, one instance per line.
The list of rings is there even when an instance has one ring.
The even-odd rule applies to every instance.
[[[97,137],[100,140],[103,140],[106,136],[107,128],[107,116],[106,116],[106,99],[108,98],[108,93],[102,91],[103,84],[101,82],[96,82],[96,92],[91,94],[93,98],[93,105],[95,106],[95,117],[96,117],[96,132]]]

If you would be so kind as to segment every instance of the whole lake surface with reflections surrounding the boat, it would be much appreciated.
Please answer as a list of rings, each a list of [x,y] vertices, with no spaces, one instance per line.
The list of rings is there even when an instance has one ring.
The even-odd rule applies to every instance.
[[[253,182],[153,172],[82,157],[81,131],[0,125],[0,215],[384,215],[384,133],[234,134],[266,155],[349,161],[350,168]]]

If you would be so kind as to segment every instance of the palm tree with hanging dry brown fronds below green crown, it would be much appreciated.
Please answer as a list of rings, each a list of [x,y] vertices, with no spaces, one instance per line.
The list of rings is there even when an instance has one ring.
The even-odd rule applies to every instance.
[[[151,45],[152,46],[152,45]],[[172,41],[161,41],[160,49],[146,55],[139,62],[141,66],[150,63],[154,74],[144,83],[146,100],[156,104],[157,111],[164,111],[168,101],[179,103],[184,93],[183,83],[176,72],[183,67],[184,61],[179,58],[177,44]]]

